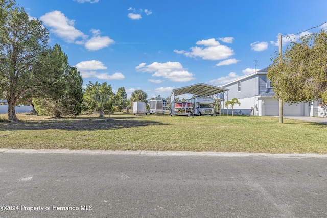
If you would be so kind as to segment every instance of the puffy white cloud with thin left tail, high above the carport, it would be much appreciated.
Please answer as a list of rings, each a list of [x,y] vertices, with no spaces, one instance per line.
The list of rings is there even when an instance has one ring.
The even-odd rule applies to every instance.
[[[203,45],[205,47],[191,47],[191,52],[174,50],[178,54],[184,54],[187,57],[200,57],[204,60],[222,60],[230,57],[234,54],[234,51],[226,45],[221,45],[214,38],[207,40],[200,40],[196,42],[197,45]]]

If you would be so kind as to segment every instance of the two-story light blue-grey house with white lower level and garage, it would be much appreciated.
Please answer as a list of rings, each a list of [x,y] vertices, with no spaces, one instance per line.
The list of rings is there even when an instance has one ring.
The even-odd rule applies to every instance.
[[[228,95],[224,94],[223,104],[232,98],[238,98],[241,105],[236,104],[234,112],[242,111],[245,115],[255,116],[278,116],[279,101],[274,98],[275,93],[267,79],[268,67],[250,75],[244,76],[238,80],[223,85],[228,89]],[[314,116],[312,102],[301,102],[298,104],[284,103],[284,116]],[[226,107],[222,105],[226,113]],[[230,106],[228,113],[231,113]]]

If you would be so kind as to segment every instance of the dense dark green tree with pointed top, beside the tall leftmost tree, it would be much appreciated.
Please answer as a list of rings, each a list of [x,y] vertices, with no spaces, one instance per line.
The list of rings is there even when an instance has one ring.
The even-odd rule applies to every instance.
[[[33,94],[38,114],[55,117],[80,114],[83,79],[76,67],[69,66],[68,57],[58,44],[40,55],[34,71],[42,84]],[[43,72],[48,76],[44,77]]]

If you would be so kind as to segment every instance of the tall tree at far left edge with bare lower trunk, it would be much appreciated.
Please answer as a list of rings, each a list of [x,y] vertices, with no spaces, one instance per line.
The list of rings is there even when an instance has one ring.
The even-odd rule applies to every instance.
[[[15,1],[0,0],[0,7],[0,90],[8,102],[8,119],[18,121],[16,102],[37,84],[33,63],[46,48],[49,33]]]

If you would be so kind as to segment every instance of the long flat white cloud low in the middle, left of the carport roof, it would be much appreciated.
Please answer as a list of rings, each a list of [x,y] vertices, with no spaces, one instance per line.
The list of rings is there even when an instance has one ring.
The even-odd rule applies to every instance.
[[[185,70],[179,62],[153,62],[147,66],[146,63],[141,63],[135,68],[139,72],[151,72],[153,77],[163,77],[172,82],[188,82],[196,79],[195,75]]]

